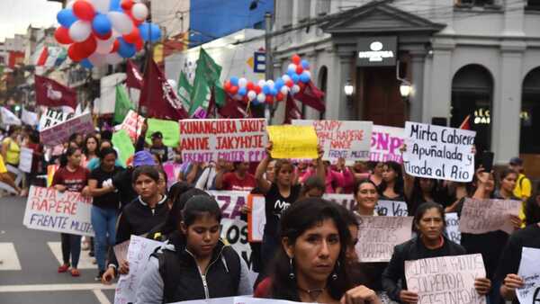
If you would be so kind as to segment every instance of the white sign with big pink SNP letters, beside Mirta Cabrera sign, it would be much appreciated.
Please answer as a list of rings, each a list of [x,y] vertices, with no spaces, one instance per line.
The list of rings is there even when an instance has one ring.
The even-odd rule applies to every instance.
[[[402,163],[400,148],[403,145],[403,128],[374,125],[369,160]]]

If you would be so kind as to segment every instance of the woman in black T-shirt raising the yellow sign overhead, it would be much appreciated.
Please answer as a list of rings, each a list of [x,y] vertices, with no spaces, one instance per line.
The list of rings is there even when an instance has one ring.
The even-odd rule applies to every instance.
[[[266,225],[261,244],[261,277],[265,276],[265,263],[274,258],[275,250],[279,247],[279,236],[277,228],[281,214],[300,196],[301,185],[294,182],[294,166],[287,159],[278,159],[275,162],[275,180],[268,181],[265,178],[266,166],[272,161],[272,143],[266,147],[266,157],[257,166],[255,178],[257,179],[258,190],[265,195],[266,201]],[[319,151],[317,159],[317,176],[325,180],[325,170],[322,164],[322,151]]]

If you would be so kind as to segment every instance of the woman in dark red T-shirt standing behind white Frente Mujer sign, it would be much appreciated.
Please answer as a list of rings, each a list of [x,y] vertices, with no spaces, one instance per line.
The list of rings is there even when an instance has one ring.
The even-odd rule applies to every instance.
[[[89,195],[85,189],[90,173],[81,166],[81,149],[67,148],[66,153],[61,157],[61,164],[55,172],[51,186],[59,192],[82,192]],[[69,255],[71,255],[71,275],[79,276],[76,268],[81,255],[81,236],[61,234],[62,240],[62,260],[64,264],[58,267],[58,273],[66,273],[69,269]]]

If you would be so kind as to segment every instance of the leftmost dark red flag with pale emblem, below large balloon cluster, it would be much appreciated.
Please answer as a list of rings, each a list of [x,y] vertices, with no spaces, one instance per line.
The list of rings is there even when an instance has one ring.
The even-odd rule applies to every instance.
[[[48,107],[59,107],[67,105],[76,108],[76,92],[67,86],[60,85],[58,82],[42,77],[35,76],[36,103]]]

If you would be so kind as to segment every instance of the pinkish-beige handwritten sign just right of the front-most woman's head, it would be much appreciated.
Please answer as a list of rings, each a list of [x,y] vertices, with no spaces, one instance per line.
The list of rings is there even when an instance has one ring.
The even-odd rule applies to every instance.
[[[356,255],[360,262],[388,262],[393,247],[410,240],[412,217],[358,216]]]

